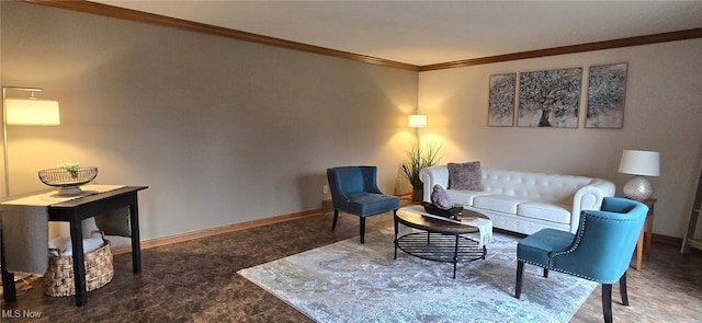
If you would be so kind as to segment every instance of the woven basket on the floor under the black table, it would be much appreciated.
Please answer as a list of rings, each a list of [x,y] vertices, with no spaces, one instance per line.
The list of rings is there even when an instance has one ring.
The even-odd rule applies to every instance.
[[[86,253],[86,289],[88,291],[95,290],[112,281],[114,277],[114,267],[112,265],[112,251],[110,250],[110,241],[101,231],[104,245],[95,251]],[[59,256],[49,255],[48,268],[44,275],[44,293],[53,297],[76,295],[76,285],[73,281],[73,257],[64,256],[58,251]]]

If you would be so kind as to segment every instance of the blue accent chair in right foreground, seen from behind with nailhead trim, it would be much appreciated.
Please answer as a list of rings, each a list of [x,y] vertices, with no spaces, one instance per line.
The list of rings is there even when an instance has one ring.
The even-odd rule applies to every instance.
[[[602,284],[604,322],[612,322],[612,285],[619,281],[622,304],[629,305],[626,269],[646,221],[648,207],[642,203],[605,197],[601,210],[584,210],[575,234],[543,229],[517,245],[517,286],[520,298],[524,263]]]

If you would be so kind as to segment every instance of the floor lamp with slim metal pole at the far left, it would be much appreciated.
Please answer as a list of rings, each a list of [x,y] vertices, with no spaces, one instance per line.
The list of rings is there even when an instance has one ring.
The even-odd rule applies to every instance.
[[[10,99],[8,91],[30,92],[29,97]],[[2,152],[4,158],[4,193],[10,195],[10,165],[8,157],[8,126],[55,126],[60,124],[58,101],[38,100],[39,88],[2,86]]]

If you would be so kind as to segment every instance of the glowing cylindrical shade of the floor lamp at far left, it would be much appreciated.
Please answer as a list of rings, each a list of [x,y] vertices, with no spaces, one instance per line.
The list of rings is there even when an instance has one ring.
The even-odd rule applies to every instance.
[[[59,125],[58,101],[5,99],[8,125]]]

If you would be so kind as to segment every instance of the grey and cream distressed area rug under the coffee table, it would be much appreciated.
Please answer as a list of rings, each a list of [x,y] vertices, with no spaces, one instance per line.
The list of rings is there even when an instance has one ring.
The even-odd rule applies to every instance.
[[[317,322],[567,322],[597,287],[525,266],[516,299],[518,238],[496,233],[486,259],[453,265],[398,250],[392,229],[241,269]]]

